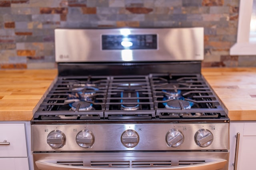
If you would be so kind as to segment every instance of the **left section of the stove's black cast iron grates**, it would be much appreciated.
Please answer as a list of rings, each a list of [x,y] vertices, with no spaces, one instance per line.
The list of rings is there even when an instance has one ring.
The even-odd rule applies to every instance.
[[[59,77],[34,118],[100,119],[104,117],[108,82],[107,76]]]

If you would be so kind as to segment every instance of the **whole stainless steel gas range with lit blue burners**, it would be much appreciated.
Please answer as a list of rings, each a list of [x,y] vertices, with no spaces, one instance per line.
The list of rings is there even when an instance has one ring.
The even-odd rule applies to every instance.
[[[31,120],[35,170],[227,170],[229,118],[201,75],[204,29],[56,29]]]

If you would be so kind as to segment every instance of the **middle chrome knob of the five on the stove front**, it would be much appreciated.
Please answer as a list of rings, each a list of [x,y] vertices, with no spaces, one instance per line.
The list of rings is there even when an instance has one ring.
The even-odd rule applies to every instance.
[[[139,135],[136,131],[128,129],[121,135],[121,142],[127,148],[133,148],[139,143]]]

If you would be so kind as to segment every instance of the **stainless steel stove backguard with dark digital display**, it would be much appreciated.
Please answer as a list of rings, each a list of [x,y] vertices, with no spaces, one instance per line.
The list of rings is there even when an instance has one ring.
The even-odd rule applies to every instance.
[[[159,31],[160,30],[160,31]],[[55,29],[56,62],[202,61],[204,28]],[[128,31],[128,33],[127,33]],[[106,39],[102,36],[107,36]],[[139,35],[145,38],[138,37]],[[156,36],[155,39],[146,36]],[[132,36],[132,37],[129,37]],[[135,37],[134,37],[135,36]],[[120,47],[125,42],[136,44]],[[148,40],[149,39],[149,40]],[[137,43],[137,41],[140,41]],[[154,43],[154,47],[148,44]],[[109,44],[116,48],[103,46]],[[145,46],[142,45],[145,43]],[[124,45],[125,46],[125,45]],[[129,45],[128,45],[129,46]]]

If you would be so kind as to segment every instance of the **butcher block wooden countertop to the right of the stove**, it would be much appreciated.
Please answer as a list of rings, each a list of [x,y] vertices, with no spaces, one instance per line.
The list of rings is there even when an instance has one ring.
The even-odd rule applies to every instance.
[[[231,121],[256,120],[256,68],[203,68]]]

